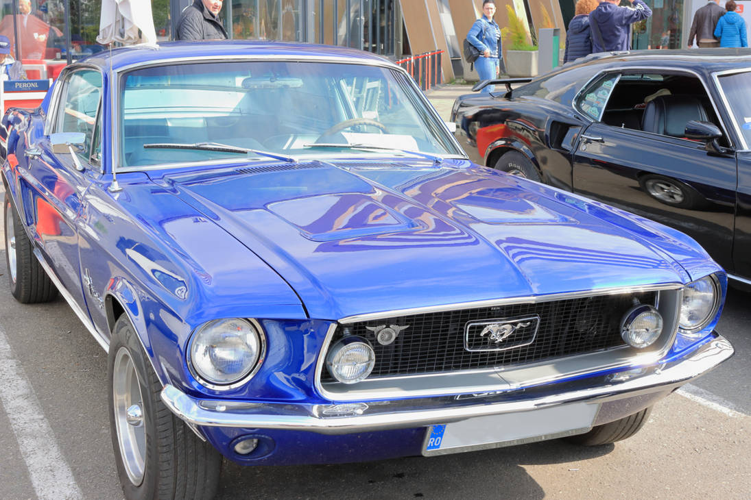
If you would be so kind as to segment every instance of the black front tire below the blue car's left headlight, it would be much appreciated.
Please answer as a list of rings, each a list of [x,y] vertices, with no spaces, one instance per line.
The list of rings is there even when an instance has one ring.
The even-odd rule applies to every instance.
[[[122,370],[127,364],[127,358],[132,363],[132,370],[137,378],[137,391],[140,398],[140,426],[143,426],[145,445],[142,445],[140,456],[139,476],[134,474],[134,466],[130,471],[125,466],[122,440],[118,429],[127,433],[131,424],[116,422],[116,409],[122,406],[122,391],[119,397],[115,395],[116,370]],[[124,361],[125,360],[125,361]],[[116,364],[119,368],[116,368]],[[128,368],[130,366],[128,365]],[[132,373],[131,370],[127,370]],[[219,486],[219,475],[222,469],[222,455],[208,442],[201,441],[183,421],[176,418],[161,401],[161,383],[156,377],[149,360],[143,354],[143,349],[132,327],[125,317],[120,318],[113,328],[108,356],[109,403],[110,403],[110,434],[115,452],[115,463],[125,498],[139,499],[212,499]],[[122,372],[118,372],[122,373]],[[122,381],[122,378],[118,380]],[[128,379],[126,379],[128,380]],[[129,379],[129,380],[132,380]],[[119,387],[132,387],[126,382]],[[131,389],[132,391],[132,389]],[[126,391],[127,392],[127,391]],[[133,400],[127,400],[125,405]],[[135,403],[137,404],[137,403]],[[132,406],[130,406],[132,408]],[[132,427],[140,427],[134,425]],[[127,440],[126,440],[127,441]],[[131,441],[132,443],[133,441]],[[131,448],[132,449],[132,448]],[[132,460],[128,463],[134,463]],[[136,475],[136,480],[131,479]]]

